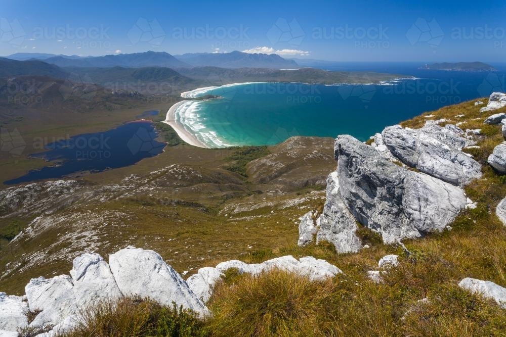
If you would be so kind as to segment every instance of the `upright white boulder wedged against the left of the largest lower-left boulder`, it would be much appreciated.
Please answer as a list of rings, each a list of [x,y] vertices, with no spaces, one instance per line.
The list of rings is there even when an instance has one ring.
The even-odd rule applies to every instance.
[[[76,305],[85,309],[100,300],[115,300],[121,292],[107,262],[98,254],[83,254],[73,261],[70,276]]]

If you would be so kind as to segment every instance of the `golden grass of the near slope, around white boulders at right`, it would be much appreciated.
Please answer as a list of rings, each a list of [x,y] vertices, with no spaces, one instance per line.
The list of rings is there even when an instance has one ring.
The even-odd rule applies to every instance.
[[[326,289],[323,293],[325,301],[310,303],[312,306],[316,305],[316,308],[312,309],[312,314],[308,313],[305,316],[306,312],[302,311],[294,322],[290,322],[287,318],[278,318],[276,324],[272,325],[271,321],[269,333],[274,331],[282,335],[308,333],[391,336],[504,335],[506,312],[492,301],[469,294],[457,286],[464,277],[490,280],[506,286],[506,228],[495,215],[497,203],[506,196],[505,177],[496,174],[486,163],[486,158],[494,146],[503,139],[500,126],[483,124],[483,120],[489,115],[506,112],[506,109],[479,113],[479,108],[481,107],[474,106],[474,102],[467,102],[401,123],[403,126],[416,128],[423,126],[428,119],[447,118],[454,123],[465,121],[463,128],[483,130],[484,136],[478,141],[480,149],[470,152],[483,165],[484,175],[466,187],[468,196],[478,203],[478,207],[461,212],[452,224],[451,231],[434,233],[423,239],[406,242],[406,247],[412,253],[409,257],[406,257],[399,248],[377,243],[357,254],[336,255],[328,247],[299,248],[294,243],[265,253],[267,257],[286,254],[296,257],[312,255],[330,261],[346,273],[346,276],[336,278],[331,285],[324,283],[315,286],[311,294]],[[455,117],[461,114],[465,116]],[[434,117],[426,118],[428,115]],[[391,253],[401,256],[400,266],[392,269],[384,277],[384,283],[381,285],[368,280],[366,271],[376,269],[378,259]],[[252,260],[257,262],[256,259]],[[260,288],[257,288],[261,295],[251,297],[251,303],[241,304],[248,301],[245,295],[255,293],[251,290],[260,287],[263,282],[262,278],[258,280],[248,276],[246,278],[246,281],[239,281],[240,286],[236,284],[232,287],[232,283],[237,283],[237,280],[234,280],[218,287],[211,302],[212,309],[218,313],[212,325],[228,333],[233,331],[236,334],[243,334],[247,329],[268,327],[267,321],[259,323],[260,316],[272,317],[274,313],[279,315],[286,311],[259,307],[261,309],[258,310],[262,312],[259,314],[242,310],[271,301],[276,303],[281,301],[285,304],[292,301],[286,294],[293,291],[293,287],[280,285],[279,291],[271,289],[270,292],[261,292]],[[270,282],[276,280],[271,279]],[[297,284],[300,286],[301,282]],[[306,301],[311,301],[311,295],[307,292],[300,292],[299,295]],[[416,302],[423,298],[429,298],[429,303]],[[285,312],[285,315],[287,314],[289,313]],[[241,321],[250,323],[243,328],[237,325]],[[283,332],[287,322],[290,322],[288,326],[294,329],[289,333]],[[308,324],[301,325],[304,322]],[[308,325],[313,329],[308,330]]]

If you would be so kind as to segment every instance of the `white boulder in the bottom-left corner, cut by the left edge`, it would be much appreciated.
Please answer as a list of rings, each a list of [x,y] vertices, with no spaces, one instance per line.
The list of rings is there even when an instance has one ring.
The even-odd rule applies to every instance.
[[[28,303],[22,297],[0,293],[0,330],[16,331],[17,327],[28,326],[27,311]]]

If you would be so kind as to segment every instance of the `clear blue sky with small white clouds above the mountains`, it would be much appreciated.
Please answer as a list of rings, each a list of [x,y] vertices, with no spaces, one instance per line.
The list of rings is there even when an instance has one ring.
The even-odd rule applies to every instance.
[[[332,61],[506,56],[504,1],[1,0],[0,55],[262,51]]]

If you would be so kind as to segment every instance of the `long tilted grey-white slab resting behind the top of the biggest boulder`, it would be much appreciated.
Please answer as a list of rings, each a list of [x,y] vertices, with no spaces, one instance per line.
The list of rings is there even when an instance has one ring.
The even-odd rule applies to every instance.
[[[395,157],[420,172],[454,185],[468,184],[482,175],[477,161],[421,129],[404,129],[395,125],[385,128],[382,135],[385,145]],[[441,133],[441,137],[443,135]]]

